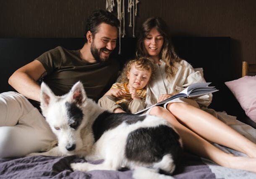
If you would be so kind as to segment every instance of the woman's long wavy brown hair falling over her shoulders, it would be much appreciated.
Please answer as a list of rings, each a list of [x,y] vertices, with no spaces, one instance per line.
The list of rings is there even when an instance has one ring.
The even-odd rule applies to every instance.
[[[156,28],[157,31],[163,36],[164,43],[162,46],[162,50],[160,52],[160,59],[162,59],[166,65],[165,65],[165,73],[167,74],[167,78],[171,78],[176,71],[176,68],[174,66],[175,62],[180,62],[180,58],[175,53],[174,48],[171,43],[170,39],[170,30],[162,18],[159,17],[152,17],[148,18],[141,26],[140,34],[138,37],[137,42],[137,56],[144,56],[149,57],[149,54],[144,46],[144,39],[149,34],[149,32]]]

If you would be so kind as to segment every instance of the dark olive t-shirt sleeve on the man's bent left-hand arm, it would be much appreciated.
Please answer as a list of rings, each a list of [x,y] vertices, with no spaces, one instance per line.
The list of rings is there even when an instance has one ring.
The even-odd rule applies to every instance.
[[[56,47],[47,52],[44,52],[42,55],[37,57],[35,60],[38,60],[42,63],[46,70],[46,75],[49,75],[56,68],[60,67],[63,60],[63,50],[61,47]]]

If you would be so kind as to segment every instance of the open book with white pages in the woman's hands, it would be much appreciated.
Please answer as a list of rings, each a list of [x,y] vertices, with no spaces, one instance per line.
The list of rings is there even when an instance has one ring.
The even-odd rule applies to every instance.
[[[147,107],[146,109],[143,109],[139,112],[136,112],[135,114],[140,114],[154,106],[160,106],[162,104],[167,103],[168,101],[171,101],[172,99],[176,99],[176,98],[192,98],[192,97],[198,97],[198,96],[202,96],[205,94],[209,94],[209,93],[213,93],[216,91],[219,91],[215,88],[215,86],[208,86],[211,83],[193,83],[190,86],[188,86],[187,88],[185,88],[183,91],[180,91],[180,93],[175,94],[173,96],[171,96],[170,98],[167,98],[157,104],[154,104],[152,106]]]

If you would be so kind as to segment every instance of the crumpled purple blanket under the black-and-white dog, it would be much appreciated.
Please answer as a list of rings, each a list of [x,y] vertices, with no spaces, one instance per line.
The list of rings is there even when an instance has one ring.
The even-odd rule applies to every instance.
[[[133,179],[131,170],[81,172],[70,168],[70,163],[84,161],[84,158],[77,156],[3,158],[0,159],[0,178]],[[102,161],[94,161],[100,162]],[[187,153],[180,158],[173,176],[177,179],[216,178],[201,158]]]

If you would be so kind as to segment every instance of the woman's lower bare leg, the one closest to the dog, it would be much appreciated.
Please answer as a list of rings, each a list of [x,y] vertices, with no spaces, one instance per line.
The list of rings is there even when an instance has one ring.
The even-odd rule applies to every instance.
[[[158,106],[153,107],[150,114],[162,117],[170,122],[183,140],[184,148],[192,153],[209,158],[221,166],[256,172],[256,158],[237,157],[225,153],[187,127],[181,125],[167,109]]]

